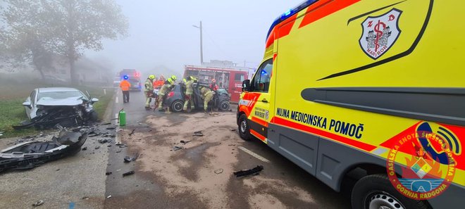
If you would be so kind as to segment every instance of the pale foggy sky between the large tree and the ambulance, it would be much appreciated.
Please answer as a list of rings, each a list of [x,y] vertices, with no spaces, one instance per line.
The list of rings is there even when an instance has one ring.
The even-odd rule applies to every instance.
[[[116,70],[151,70],[165,65],[183,72],[199,65],[199,25],[204,27],[204,62],[228,60],[248,67],[263,58],[266,34],[280,14],[302,0],[117,0],[128,17],[130,37],[105,41],[103,51],[87,51],[92,59],[111,61]]]

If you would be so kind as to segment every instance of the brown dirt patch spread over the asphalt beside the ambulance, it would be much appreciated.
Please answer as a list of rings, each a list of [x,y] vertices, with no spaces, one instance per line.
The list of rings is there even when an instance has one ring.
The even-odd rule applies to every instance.
[[[149,116],[146,123],[147,128],[136,129],[132,136],[131,127],[120,136],[132,153],[140,153],[137,172],[162,185],[163,194],[154,198],[190,200],[175,208],[286,208],[296,203],[314,204],[314,198],[304,189],[264,171],[256,176],[233,175],[237,170],[252,168],[243,167],[240,156],[263,164],[237,148],[247,142],[235,131],[235,113],[165,113]],[[203,137],[193,136],[199,131]],[[175,146],[182,149],[175,150]]]

